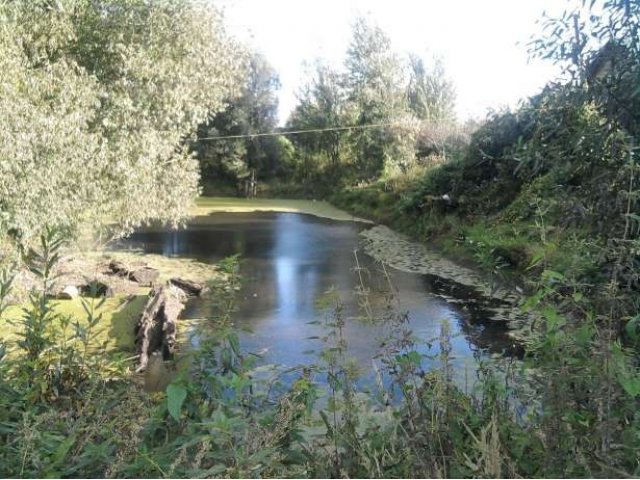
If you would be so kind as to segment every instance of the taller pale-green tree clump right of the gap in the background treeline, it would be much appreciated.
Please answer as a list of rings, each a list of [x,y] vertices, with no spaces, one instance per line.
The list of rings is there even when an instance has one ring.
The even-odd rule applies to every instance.
[[[330,177],[339,185],[406,174],[424,165],[426,140],[455,136],[455,92],[442,64],[410,55],[404,61],[380,27],[359,18],[344,69],[316,64],[287,122],[291,130],[326,130],[291,137],[301,157],[298,176],[310,189]],[[332,130],[334,128],[337,130]],[[354,127],[341,129],[341,127]],[[328,192],[324,192],[328,193]]]

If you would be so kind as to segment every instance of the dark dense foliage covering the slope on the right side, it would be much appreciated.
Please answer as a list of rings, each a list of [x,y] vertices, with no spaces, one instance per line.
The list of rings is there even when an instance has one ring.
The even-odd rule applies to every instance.
[[[638,285],[633,252],[640,226],[640,56],[632,32],[639,21],[637,11],[627,11],[624,2],[605,7],[608,16],[589,17],[600,40],[591,49],[582,45],[582,36],[579,45],[573,44],[573,36],[566,42],[555,37],[574,22],[581,24],[580,10],[549,20],[553,34],[534,42],[534,53],[549,56],[581,49],[577,64],[571,56],[558,59],[566,62],[565,81],[548,86],[514,112],[493,115],[472,136],[464,155],[429,172],[403,200],[405,212],[431,225],[427,231],[442,224],[431,220],[443,213],[438,205],[443,195],[455,203],[447,211],[467,223],[513,225],[519,232],[514,230],[513,236],[521,238],[511,242],[511,252],[495,244],[488,250],[496,247],[496,259],[501,256],[516,267],[527,267],[541,248],[551,248],[539,245],[540,223],[548,230],[542,243],[548,240],[553,248],[572,236],[587,241],[595,257],[583,259],[579,268],[567,263],[562,249],[547,253],[564,262],[556,266],[571,271],[590,296],[595,292],[587,286],[606,282],[612,270],[617,271],[616,282],[631,289]],[[526,225],[533,231],[527,232],[531,229]],[[610,292],[601,294],[604,298]]]

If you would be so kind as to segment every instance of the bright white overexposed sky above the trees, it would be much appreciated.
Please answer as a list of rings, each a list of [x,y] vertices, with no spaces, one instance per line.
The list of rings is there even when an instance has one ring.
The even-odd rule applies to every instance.
[[[390,37],[393,49],[425,61],[439,56],[457,92],[462,121],[515,106],[557,76],[549,62],[529,61],[526,44],[546,11],[564,0],[212,0],[229,32],[264,54],[281,82],[283,124],[317,58],[341,66],[354,19],[364,15]]]

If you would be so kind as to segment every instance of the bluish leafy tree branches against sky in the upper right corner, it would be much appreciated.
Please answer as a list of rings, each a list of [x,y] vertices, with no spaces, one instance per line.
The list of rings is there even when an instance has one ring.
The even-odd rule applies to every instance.
[[[640,4],[576,2],[561,17],[546,17],[543,27],[531,54],[562,67],[574,87],[566,90],[571,101],[593,102],[610,122],[640,133]]]

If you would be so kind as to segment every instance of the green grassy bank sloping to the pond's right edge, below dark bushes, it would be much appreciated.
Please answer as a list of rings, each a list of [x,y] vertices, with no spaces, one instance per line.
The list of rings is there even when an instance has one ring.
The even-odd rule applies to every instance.
[[[603,256],[607,237],[576,218],[565,192],[559,196],[557,188],[546,190],[540,180],[519,185],[515,192],[510,179],[476,183],[465,179],[467,169],[476,168],[468,163],[454,160],[402,188],[382,180],[345,188],[329,201],[458,262],[516,281],[530,293],[548,280],[549,272],[556,286],[585,297],[606,286],[611,270]],[[452,184],[462,185],[456,191]]]

